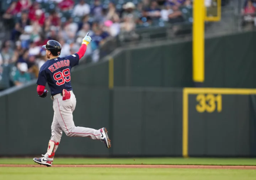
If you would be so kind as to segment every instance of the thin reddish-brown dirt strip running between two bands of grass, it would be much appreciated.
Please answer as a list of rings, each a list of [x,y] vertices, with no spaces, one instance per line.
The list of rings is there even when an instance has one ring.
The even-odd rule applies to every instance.
[[[0,164],[0,167],[42,167],[39,164]],[[52,167],[80,167],[80,168],[185,168],[185,169],[254,169],[256,166],[226,166],[226,165],[121,165],[121,164],[89,164],[89,165],[68,165],[56,164]]]

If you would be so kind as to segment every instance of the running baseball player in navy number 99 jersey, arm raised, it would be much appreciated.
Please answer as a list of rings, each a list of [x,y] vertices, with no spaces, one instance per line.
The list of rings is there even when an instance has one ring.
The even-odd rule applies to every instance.
[[[79,60],[84,56],[87,45],[91,42],[89,33],[84,37],[79,51],[75,54],[59,58],[62,47],[59,42],[49,40],[43,48],[46,49],[46,56],[49,59],[46,61],[39,71],[37,80],[37,93],[39,97],[47,96],[46,83],[50,88],[51,99],[53,100],[53,122],[52,136],[50,138],[46,154],[42,154],[41,158],[33,158],[33,161],[52,166],[54,154],[59,146],[62,137],[62,131],[70,137],[89,137],[93,140],[101,140],[106,144],[107,148],[111,147],[110,139],[108,138],[105,127],[95,130],[88,127],[75,126],[73,121],[73,111],[76,106],[76,97],[71,87],[70,70],[78,65]]]

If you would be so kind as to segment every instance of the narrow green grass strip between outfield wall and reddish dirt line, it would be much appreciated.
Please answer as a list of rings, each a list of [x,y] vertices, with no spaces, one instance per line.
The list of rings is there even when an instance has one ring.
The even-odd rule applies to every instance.
[[[256,165],[256,158],[55,158],[54,164]],[[32,158],[0,158],[0,164],[34,164]]]

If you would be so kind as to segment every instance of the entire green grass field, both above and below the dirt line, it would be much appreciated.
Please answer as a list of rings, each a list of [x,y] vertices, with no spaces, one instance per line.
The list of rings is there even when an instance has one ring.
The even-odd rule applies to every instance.
[[[55,158],[54,164],[256,165],[232,158]],[[0,164],[34,164],[32,158],[0,158]],[[256,170],[0,167],[0,180],[255,180]]]

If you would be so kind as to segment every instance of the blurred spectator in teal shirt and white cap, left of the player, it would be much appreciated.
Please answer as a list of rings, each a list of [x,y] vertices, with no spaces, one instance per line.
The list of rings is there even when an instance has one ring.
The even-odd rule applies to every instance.
[[[21,62],[17,65],[18,70],[14,75],[14,84],[20,86],[31,80],[30,74],[28,71],[28,66],[26,62]]]

